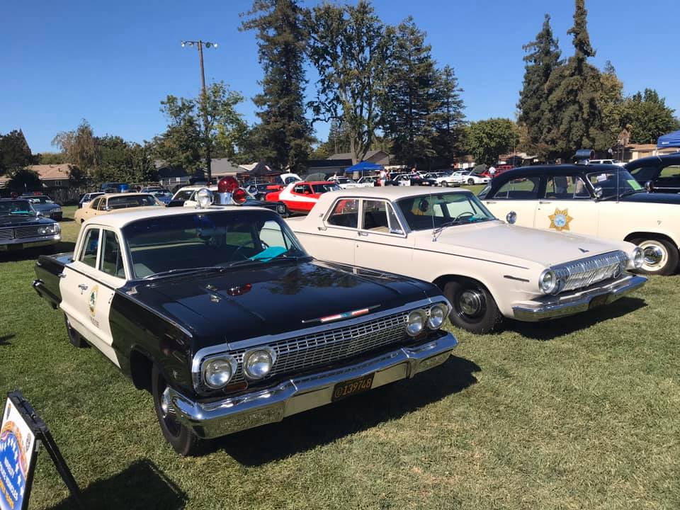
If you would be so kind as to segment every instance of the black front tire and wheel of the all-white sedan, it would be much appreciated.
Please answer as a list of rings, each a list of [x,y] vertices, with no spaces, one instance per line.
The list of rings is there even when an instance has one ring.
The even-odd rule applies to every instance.
[[[461,278],[444,285],[444,295],[451,303],[451,323],[471,333],[485,334],[503,322],[494,297],[481,283]]]

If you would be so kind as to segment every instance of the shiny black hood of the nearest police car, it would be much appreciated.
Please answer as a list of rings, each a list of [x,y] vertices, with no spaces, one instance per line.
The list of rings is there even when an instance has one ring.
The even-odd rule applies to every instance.
[[[192,273],[132,285],[119,292],[183,325],[196,350],[316,327],[314,319],[321,317],[363,308],[380,312],[440,294],[420,280],[321,261]]]

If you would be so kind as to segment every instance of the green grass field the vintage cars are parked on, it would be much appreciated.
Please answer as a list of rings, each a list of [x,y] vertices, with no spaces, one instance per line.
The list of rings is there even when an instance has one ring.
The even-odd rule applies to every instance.
[[[180,458],[149,394],[68,343],[35,256],[0,255],[0,392],[47,421],[90,508],[680,508],[680,276],[579,317],[455,330],[440,368]],[[41,451],[30,508],[67,497]]]

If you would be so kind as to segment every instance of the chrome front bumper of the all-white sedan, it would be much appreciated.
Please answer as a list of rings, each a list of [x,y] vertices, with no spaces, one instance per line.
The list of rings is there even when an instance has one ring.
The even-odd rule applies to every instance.
[[[647,282],[644,276],[627,275],[605,285],[594,285],[581,291],[565,295],[546,296],[545,299],[521,303],[512,307],[514,319],[538,322],[546,319],[566,317],[600,305],[608,305]]]

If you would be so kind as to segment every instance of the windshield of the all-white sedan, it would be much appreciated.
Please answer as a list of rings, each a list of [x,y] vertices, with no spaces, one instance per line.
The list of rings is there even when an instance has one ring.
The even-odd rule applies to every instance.
[[[397,201],[412,230],[495,220],[472,193],[433,193]]]

